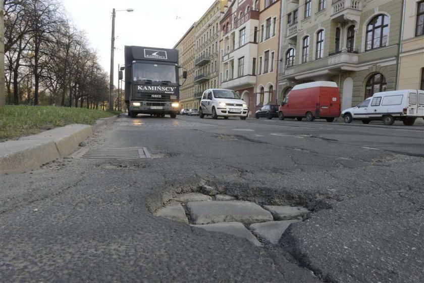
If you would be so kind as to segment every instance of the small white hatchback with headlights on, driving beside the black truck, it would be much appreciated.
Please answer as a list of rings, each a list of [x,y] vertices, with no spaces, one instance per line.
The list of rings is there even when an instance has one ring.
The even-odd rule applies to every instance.
[[[213,88],[203,92],[199,107],[200,118],[210,115],[213,119],[240,117],[240,119],[246,120],[247,112],[247,104],[234,90]]]

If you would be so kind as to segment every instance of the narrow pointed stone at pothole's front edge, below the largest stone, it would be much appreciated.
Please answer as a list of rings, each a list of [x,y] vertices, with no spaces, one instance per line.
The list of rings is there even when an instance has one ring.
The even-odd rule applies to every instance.
[[[236,237],[245,238],[253,245],[261,247],[262,244],[254,237],[254,235],[240,222],[221,222],[206,225],[192,225],[207,231],[215,231],[234,235]]]

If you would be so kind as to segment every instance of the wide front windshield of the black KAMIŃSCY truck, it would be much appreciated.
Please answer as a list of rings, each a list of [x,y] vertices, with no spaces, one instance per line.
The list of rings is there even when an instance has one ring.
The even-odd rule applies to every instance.
[[[172,65],[135,63],[133,65],[133,79],[134,81],[148,80],[177,83],[175,66]]]

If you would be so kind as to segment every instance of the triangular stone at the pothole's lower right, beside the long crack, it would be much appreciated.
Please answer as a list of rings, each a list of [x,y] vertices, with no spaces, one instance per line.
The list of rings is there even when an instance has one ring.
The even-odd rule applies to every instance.
[[[300,220],[283,220],[283,221],[270,221],[263,223],[254,223],[249,226],[255,234],[261,238],[269,241],[271,244],[276,245],[281,238],[284,231],[290,226],[291,223],[302,222]]]

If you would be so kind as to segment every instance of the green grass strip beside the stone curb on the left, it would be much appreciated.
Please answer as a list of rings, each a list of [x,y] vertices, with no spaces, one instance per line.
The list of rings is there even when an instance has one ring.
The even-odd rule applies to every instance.
[[[93,125],[96,119],[116,114],[119,112],[55,106],[7,105],[0,109],[0,141],[41,132],[42,126]]]

